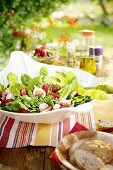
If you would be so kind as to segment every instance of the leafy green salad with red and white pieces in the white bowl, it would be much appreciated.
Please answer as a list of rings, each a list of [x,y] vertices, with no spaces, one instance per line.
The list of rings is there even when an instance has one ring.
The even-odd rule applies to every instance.
[[[106,99],[107,93],[100,89],[85,89],[71,71],[56,71],[50,76],[46,67],[32,78],[14,73],[7,75],[8,85],[0,83],[0,109],[19,113],[39,113],[67,107],[76,107],[93,98]]]

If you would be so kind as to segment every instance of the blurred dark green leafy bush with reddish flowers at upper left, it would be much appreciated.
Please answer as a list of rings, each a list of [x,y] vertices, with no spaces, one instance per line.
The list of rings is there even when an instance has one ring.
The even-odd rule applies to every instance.
[[[16,48],[26,48],[25,28],[70,1],[72,0],[0,0],[0,57],[9,55]]]

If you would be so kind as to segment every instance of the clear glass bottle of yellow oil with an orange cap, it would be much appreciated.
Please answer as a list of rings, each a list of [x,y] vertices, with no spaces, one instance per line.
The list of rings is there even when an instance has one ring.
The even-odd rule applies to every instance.
[[[96,62],[92,55],[89,54],[89,47],[95,44],[95,31],[82,30],[82,51],[80,59],[80,69],[91,74],[96,74]]]

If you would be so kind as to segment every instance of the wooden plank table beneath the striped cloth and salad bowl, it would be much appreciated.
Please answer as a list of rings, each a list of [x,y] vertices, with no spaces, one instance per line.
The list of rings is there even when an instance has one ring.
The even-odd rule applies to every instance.
[[[104,84],[113,86],[113,58],[104,58],[98,77]],[[94,111],[96,115],[96,110]],[[53,147],[32,147],[0,149],[0,170],[57,170],[50,160]]]

